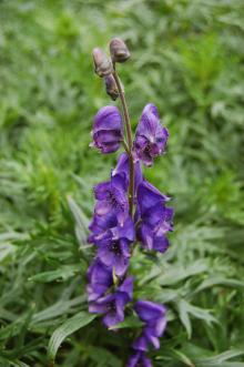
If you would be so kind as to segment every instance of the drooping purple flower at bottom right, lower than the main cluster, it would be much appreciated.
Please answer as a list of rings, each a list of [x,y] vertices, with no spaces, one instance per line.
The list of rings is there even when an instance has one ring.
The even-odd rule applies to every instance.
[[[133,343],[133,349],[145,351],[149,344],[157,349],[160,347],[159,337],[163,335],[166,327],[166,308],[150,300],[139,300],[134,309],[145,326],[142,335]]]

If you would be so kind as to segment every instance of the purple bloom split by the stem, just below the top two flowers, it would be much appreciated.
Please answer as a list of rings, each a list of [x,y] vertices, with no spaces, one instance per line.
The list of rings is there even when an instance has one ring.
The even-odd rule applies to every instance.
[[[119,156],[118,164],[112,172],[112,175],[116,175],[116,174],[123,174],[123,176],[125,177],[126,190],[128,190],[128,187],[129,187],[129,157],[128,157],[126,153],[122,153]],[[138,186],[142,181],[143,181],[143,174],[142,174],[142,170],[141,170],[141,164],[140,164],[140,161],[135,161],[134,162],[134,193],[135,193],[135,196],[136,196]]]

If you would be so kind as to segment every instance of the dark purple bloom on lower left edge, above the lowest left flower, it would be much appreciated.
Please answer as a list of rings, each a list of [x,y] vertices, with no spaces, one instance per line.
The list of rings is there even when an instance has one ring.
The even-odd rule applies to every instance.
[[[108,268],[98,258],[95,258],[88,269],[88,300],[94,302],[104,295],[104,293],[112,286],[112,269]]]

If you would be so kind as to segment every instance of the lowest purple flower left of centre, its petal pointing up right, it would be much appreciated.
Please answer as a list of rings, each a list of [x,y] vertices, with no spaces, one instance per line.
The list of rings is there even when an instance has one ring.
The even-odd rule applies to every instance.
[[[104,314],[103,324],[114,326],[124,319],[124,307],[132,299],[133,277],[128,277],[113,294],[96,299],[89,305],[89,312]]]

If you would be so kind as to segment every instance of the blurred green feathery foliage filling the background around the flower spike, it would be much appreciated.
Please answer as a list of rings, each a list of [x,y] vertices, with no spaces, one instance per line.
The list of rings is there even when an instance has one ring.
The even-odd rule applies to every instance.
[[[91,51],[114,35],[133,128],[153,102],[170,131],[145,175],[173,197],[171,247],[132,263],[135,296],[170,309],[154,366],[242,367],[243,0],[0,1],[0,366],[49,366],[53,330],[87,310],[92,186],[116,159],[89,149],[111,103]],[[94,320],[57,366],[123,367],[133,336]]]

